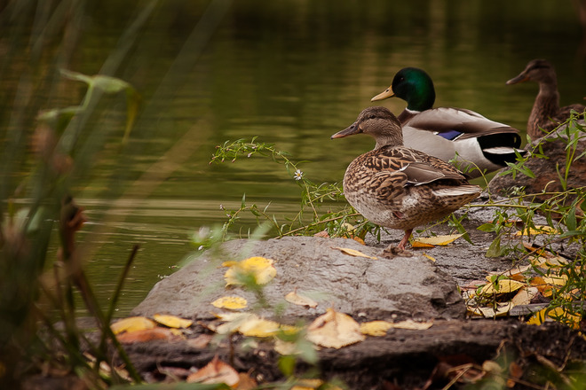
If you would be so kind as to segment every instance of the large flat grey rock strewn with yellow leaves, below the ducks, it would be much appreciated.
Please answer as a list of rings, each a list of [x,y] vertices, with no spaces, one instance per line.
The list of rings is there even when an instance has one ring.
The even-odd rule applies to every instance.
[[[355,249],[377,259],[345,254],[338,247]],[[132,315],[166,313],[209,319],[212,313],[223,311],[210,302],[226,295],[245,298],[254,308],[257,296],[242,287],[225,287],[226,268],[220,265],[226,260],[263,256],[273,259],[277,276],[263,289],[271,307],[254,308],[261,316],[313,318],[331,307],[364,319],[463,317],[465,308],[455,280],[432,261],[422,256],[386,259],[378,257],[380,252],[380,248],[343,238],[226,242],[157,283]],[[317,308],[285,302],[284,296],[294,290],[316,300]]]

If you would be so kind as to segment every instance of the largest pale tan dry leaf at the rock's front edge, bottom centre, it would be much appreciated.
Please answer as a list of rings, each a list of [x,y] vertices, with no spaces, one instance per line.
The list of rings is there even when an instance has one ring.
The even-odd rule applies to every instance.
[[[329,308],[307,327],[307,339],[321,347],[341,348],[366,339],[360,324],[344,313]]]

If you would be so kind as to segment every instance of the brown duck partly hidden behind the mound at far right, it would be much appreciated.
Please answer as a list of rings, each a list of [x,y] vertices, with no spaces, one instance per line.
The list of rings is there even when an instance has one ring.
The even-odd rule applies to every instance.
[[[544,136],[543,130],[550,132],[557,128],[560,122],[570,117],[572,110],[578,113],[586,110],[586,106],[579,104],[559,106],[556,70],[545,59],[529,61],[523,72],[509,80],[507,85],[528,81],[539,83],[539,93],[527,121],[527,134],[531,136],[531,139],[535,140]]]

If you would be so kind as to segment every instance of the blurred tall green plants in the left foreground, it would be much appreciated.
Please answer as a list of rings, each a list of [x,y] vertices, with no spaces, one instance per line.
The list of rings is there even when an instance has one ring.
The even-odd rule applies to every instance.
[[[63,71],[63,74],[88,84],[83,105],[51,109],[37,116],[38,125],[32,135],[33,155],[22,153],[18,156],[29,159],[30,174],[14,187],[5,185],[4,198],[1,199],[7,208],[0,214],[0,368],[5,373],[0,375],[0,382],[18,381],[23,373],[15,351],[29,354],[22,356],[28,359],[40,350],[51,364],[79,371],[93,378],[96,386],[123,383],[125,380],[115,370],[108,377],[99,372],[100,363],[112,364],[112,356],[107,351],[108,343],[125,361],[131,377],[139,381],[138,373],[109,327],[137,248],[123,270],[112,306],[102,310],[83,271],[83,259],[75,242],[75,232],[84,222],[83,210],[75,205],[70,196],[74,183],[72,172],[80,174],[90,168],[88,155],[78,151],[91,151],[88,153],[91,155],[102,146],[93,143],[94,140],[86,134],[90,129],[82,125],[82,118],[91,114],[99,99],[97,92],[124,92],[128,97],[125,137],[130,134],[139,104],[138,95],[128,83],[114,77],[89,77],[68,71]],[[23,138],[22,142],[26,141]],[[12,161],[5,160],[4,174],[11,173],[13,167]],[[25,197],[30,200],[15,202]],[[59,233],[60,246],[58,260],[54,262],[50,256],[53,230]],[[53,268],[53,272],[49,273],[51,277],[44,277],[41,282],[41,275],[49,266]],[[99,326],[97,344],[88,343],[76,324],[75,291]],[[44,309],[39,308],[41,300],[44,301]],[[64,331],[57,330],[53,325],[57,320],[64,325]],[[37,333],[38,323],[44,325],[44,333]],[[43,335],[50,337],[46,339]],[[88,343],[90,354],[96,358],[95,365],[91,365],[82,355],[80,346],[83,342]]]

